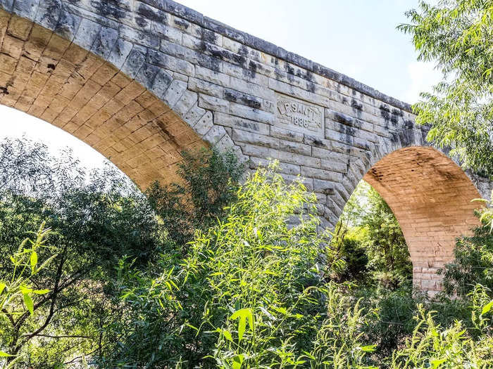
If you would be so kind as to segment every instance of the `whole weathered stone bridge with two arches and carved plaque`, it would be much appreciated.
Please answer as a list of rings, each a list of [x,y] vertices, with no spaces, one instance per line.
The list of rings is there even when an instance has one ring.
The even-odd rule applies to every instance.
[[[404,231],[414,283],[476,220],[487,179],[425,143],[409,105],[168,0],[0,0],[0,103],[70,132],[142,187],[180,152],[232,148],[301,174],[337,222],[366,179]],[[4,122],[4,124],[13,124]]]

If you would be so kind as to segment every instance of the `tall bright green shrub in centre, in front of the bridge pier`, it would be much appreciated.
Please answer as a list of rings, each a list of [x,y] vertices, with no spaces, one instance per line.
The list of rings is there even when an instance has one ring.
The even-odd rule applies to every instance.
[[[161,264],[129,275],[123,263],[122,296],[132,318],[101,365],[363,363],[372,349],[359,343],[363,312],[322,278],[337,259],[332,250],[323,252],[327,238],[316,231],[315,202],[301,182],[287,185],[259,169],[239,188],[225,219],[196,233],[179,265],[163,255]],[[289,226],[294,214],[299,224]]]

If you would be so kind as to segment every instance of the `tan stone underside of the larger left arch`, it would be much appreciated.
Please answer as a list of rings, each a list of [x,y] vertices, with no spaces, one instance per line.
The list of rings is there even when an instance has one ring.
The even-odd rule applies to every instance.
[[[0,11],[0,45],[0,103],[80,138],[141,188],[176,181],[182,150],[206,145],[142,84],[30,20]]]

